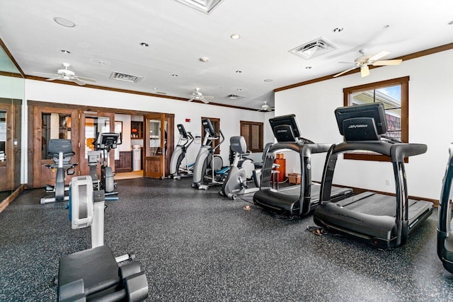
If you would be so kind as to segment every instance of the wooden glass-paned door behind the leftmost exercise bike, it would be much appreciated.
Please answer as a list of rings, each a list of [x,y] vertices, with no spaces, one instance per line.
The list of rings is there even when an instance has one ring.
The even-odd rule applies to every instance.
[[[54,163],[47,157],[47,146],[50,139],[71,139],[76,156],[71,163],[79,158],[79,114],[77,110],[35,106],[33,108],[33,187],[44,187],[55,184],[56,169],[47,168],[46,164]],[[72,176],[80,175],[79,166]],[[65,175],[65,183],[69,184],[72,176]]]

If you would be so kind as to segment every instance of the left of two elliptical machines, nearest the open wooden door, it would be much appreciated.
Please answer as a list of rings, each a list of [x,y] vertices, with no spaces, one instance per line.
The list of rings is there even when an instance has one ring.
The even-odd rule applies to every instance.
[[[193,136],[190,132],[186,132],[183,124],[178,124],[179,141],[176,145],[175,151],[171,155],[170,160],[170,175],[168,178],[174,180],[180,180],[183,177],[190,177],[193,175],[193,164],[188,165],[187,158],[185,159],[185,167],[182,168],[180,165],[185,158],[185,153],[189,146],[193,143]],[[184,141],[183,144],[181,142]]]

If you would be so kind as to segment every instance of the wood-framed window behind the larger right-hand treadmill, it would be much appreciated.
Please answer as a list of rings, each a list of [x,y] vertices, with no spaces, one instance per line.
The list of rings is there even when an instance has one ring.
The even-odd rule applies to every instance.
[[[409,77],[391,79],[343,89],[345,106],[382,103],[386,111],[387,132],[383,137],[408,142]],[[389,161],[387,156],[355,151],[344,158],[365,161]],[[406,159],[407,161],[407,159]]]

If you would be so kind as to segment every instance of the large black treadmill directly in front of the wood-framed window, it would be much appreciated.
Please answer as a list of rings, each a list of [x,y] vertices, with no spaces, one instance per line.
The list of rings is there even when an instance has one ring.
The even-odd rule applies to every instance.
[[[345,141],[331,146],[321,181],[321,204],[314,222],[331,233],[364,240],[377,248],[394,248],[406,243],[408,234],[430,216],[432,202],[408,199],[404,158],[423,154],[425,144],[406,144],[381,138],[387,124],[382,103],[355,105],[335,111]],[[389,156],[394,168],[396,196],[363,192],[340,202],[330,202],[333,173],[338,154],[372,151]]]

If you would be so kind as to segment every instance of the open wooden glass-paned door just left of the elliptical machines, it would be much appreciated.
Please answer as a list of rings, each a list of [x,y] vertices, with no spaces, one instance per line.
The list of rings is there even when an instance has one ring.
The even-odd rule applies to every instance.
[[[152,113],[144,116],[144,165],[146,178],[165,178],[173,153],[174,116]]]

